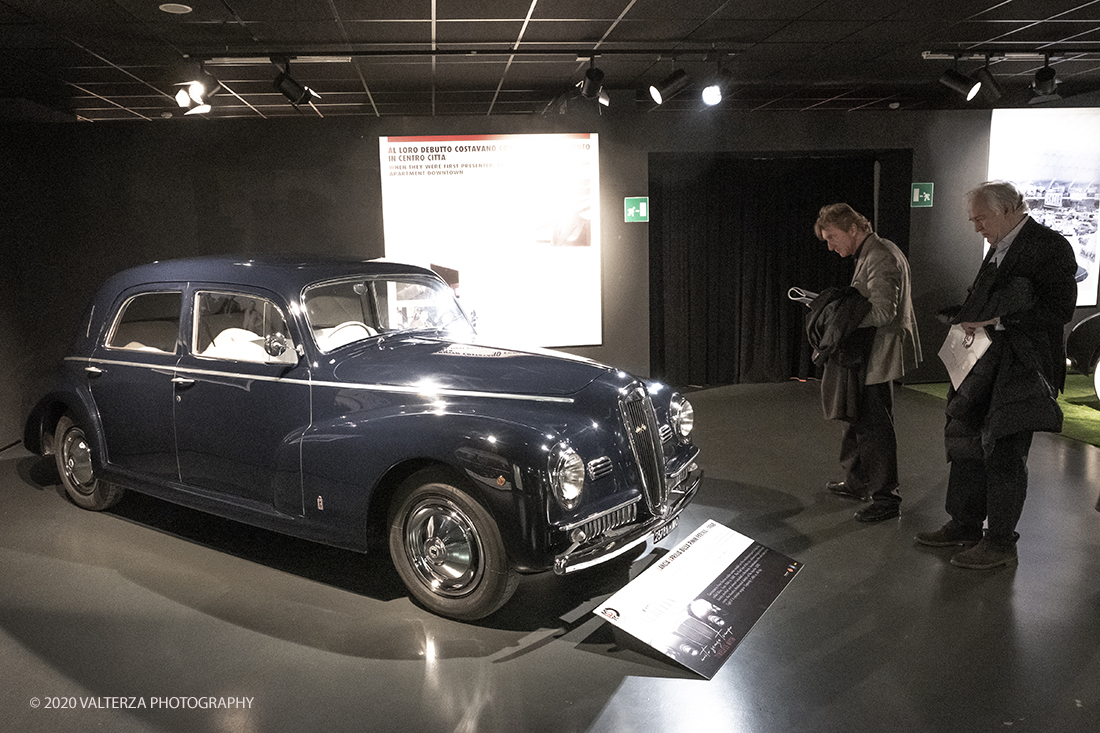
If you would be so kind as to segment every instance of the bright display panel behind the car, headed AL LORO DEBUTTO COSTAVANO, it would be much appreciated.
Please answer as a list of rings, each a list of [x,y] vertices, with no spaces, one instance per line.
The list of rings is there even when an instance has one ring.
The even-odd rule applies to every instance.
[[[380,138],[386,258],[430,266],[485,340],[602,341],[595,134]]]

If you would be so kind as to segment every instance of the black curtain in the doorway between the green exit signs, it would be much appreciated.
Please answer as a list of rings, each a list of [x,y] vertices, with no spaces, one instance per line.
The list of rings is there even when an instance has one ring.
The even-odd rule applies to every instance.
[[[911,151],[649,158],[650,372],[679,387],[814,376],[792,286],[847,285],[853,261],[813,225],[844,201],[909,247]],[[889,199],[889,200],[888,200]]]

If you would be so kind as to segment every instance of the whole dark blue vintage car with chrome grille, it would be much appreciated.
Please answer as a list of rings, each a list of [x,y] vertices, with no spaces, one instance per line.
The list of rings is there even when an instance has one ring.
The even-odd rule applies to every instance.
[[[691,404],[568,354],[481,343],[436,273],[363,261],[160,262],[114,275],[25,445],[73,502],[123,488],[365,551],[485,616],[518,573],[663,537],[702,471]]]

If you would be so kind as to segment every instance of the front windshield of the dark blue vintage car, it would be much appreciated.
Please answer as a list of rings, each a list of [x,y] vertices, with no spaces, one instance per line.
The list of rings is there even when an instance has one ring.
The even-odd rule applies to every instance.
[[[396,332],[473,335],[453,291],[430,277],[322,283],[306,289],[302,305],[321,351]]]

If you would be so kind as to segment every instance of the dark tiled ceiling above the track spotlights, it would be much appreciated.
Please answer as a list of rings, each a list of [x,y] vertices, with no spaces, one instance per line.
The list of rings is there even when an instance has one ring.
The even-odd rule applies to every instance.
[[[1057,97],[1100,90],[1100,0],[163,4],[0,0],[0,119],[178,118],[177,84],[199,61],[222,84],[207,113],[219,118],[540,114],[563,100],[596,109],[575,88],[593,63],[613,108],[659,113],[702,109],[700,81],[719,62],[735,85],[719,109],[734,111],[961,108],[937,80],[953,66],[977,72],[986,54],[1004,94],[972,105],[1034,103],[1044,55]],[[292,106],[274,88],[272,57],[289,58],[320,98]],[[656,107],[646,89],[678,67],[692,84]]]

